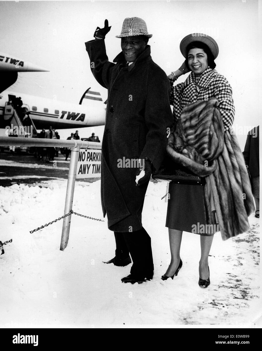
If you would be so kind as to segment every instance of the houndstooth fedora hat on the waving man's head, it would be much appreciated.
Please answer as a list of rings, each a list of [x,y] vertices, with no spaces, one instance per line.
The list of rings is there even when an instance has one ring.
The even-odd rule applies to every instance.
[[[121,34],[116,35],[116,38],[134,37],[135,35],[145,35],[147,38],[151,38],[153,34],[148,34],[146,22],[142,18],[125,18]]]

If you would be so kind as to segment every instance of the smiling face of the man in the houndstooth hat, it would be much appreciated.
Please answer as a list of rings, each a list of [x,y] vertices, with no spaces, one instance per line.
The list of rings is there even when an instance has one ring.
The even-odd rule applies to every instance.
[[[134,62],[146,46],[147,43],[142,35],[121,38],[121,49],[128,62]]]

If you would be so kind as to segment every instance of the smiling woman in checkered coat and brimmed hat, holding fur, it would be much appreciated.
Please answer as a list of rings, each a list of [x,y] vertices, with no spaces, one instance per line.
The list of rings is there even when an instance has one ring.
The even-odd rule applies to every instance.
[[[218,46],[213,38],[194,33],[182,39],[180,50],[186,61],[182,67],[183,72],[180,68],[169,76],[172,85],[179,75],[189,71],[191,73],[184,83],[172,89],[170,105],[173,105],[174,125],[176,126],[185,106],[192,104],[194,108],[198,101],[208,103],[209,99],[215,98],[223,122],[221,135],[224,145],[221,145],[220,155],[216,159],[216,169],[205,177],[204,186],[169,184],[166,226],[169,229],[171,263],[162,280],[169,277],[173,279],[182,267],[180,245],[182,232],[187,231],[200,234],[199,285],[207,287],[210,284],[208,255],[214,233],[220,231],[222,239],[226,240],[248,230],[247,217],[254,205],[241,150],[235,135],[230,133],[235,114],[232,89],[227,79],[214,69]],[[183,113],[186,109],[188,106]],[[190,106],[187,111],[190,111],[188,118],[192,119]],[[191,135],[196,137],[197,132],[199,130],[191,131]],[[199,138],[201,137],[200,135]],[[246,202],[242,199],[242,193],[247,194]],[[213,225],[208,227],[208,231],[205,230],[207,224]]]

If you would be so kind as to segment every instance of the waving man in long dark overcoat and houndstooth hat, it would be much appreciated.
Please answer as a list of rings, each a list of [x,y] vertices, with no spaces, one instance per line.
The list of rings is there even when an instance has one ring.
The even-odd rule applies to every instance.
[[[152,34],[144,20],[124,20],[116,37],[121,38],[122,52],[113,62],[108,61],[104,40],[110,28],[105,20],[104,28],[96,28],[95,40],[85,43],[92,73],[108,89],[101,203],[108,228],[115,233],[116,255],[107,263],[125,266],[131,262],[130,252],[133,266],[121,280],[140,283],[154,273],[151,239],[141,215],[152,170],[158,170],[166,153],[167,127],[173,121],[170,83],[150,56],[147,42]],[[140,160],[140,168],[132,160]]]

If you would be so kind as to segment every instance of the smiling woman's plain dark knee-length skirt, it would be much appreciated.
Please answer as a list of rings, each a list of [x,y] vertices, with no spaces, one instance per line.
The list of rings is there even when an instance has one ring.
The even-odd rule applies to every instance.
[[[194,233],[195,225],[206,225],[203,185],[169,183],[168,193],[166,227]]]

